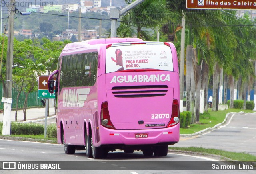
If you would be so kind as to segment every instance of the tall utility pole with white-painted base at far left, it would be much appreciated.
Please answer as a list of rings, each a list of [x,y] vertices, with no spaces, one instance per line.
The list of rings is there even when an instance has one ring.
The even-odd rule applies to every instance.
[[[11,135],[12,109],[12,63],[13,63],[13,29],[14,29],[15,0],[10,1],[10,15],[8,20],[8,47],[6,60],[6,92],[4,93],[3,135]]]

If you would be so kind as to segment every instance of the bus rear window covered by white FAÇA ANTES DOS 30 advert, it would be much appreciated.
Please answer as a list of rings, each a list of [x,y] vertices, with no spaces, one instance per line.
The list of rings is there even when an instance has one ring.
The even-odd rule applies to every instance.
[[[106,73],[132,69],[173,71],[172,52],[166,45],[112,46],[106,50]]]

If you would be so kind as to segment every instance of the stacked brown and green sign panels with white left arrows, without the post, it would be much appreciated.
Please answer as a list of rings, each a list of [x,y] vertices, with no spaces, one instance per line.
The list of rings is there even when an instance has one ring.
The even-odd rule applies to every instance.
[[[54,82],[54,93],[48,92],[48,77],[38,77],[38,98],[55,98],[55,82]],[[56,78],[54,78],[56,80]]]

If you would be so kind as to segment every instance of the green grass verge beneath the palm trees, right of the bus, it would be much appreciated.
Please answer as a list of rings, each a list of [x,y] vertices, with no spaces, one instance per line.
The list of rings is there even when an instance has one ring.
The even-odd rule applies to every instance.
[[[252,113],[251,110],[241,110],[241,109],[226,109],[224,111],[212,111],[208,109],[208,112],[200,114],[199,123],[189,125],[188,128],[180,128],[180,134],[192,134],[198,131],[202,131],[208,127],[214,127],[215,125],[222,123],[227,115],[230,112],[246,112]]]

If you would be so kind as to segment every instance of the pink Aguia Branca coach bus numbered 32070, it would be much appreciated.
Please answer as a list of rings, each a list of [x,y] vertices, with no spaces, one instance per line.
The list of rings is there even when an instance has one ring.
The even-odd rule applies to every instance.
[[[56,83],[54,83],[56,76]],[[166,156],[179,141],[180,87],[174,45],[137,38],[93,39],[63,49],[56,84],[58,143],[88,158],[142,150]]]

